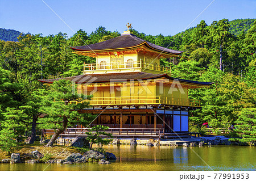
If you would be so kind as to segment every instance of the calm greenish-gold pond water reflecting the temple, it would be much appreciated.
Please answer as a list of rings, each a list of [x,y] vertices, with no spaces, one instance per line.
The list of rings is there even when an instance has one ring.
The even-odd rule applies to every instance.
[[[110,165],[77,163],[0,164],[0,170],[256,170],[256,148],[249,146],[204,146],[183,148],[170,146],[105,146],[117,156]],[[195,151],[195,152],[194,152]],[[202,161],[199,156],[204,160]]]

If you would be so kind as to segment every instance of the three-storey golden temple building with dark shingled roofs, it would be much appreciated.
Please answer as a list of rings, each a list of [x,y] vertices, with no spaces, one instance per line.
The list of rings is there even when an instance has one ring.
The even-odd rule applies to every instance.
[[[71,48],[95,57],[96,63],[84,64],[82,75],[65,79],[77,83],[78,92],[93,95],[91,107],[83,111],[100,114],[92,125],[108,126],[112,132],[187,133],[189,111],[201,107],[200,100],[188,98],[189,89],[212,85],[171,77],[171,68],[160,65],[160,58],[182,52],[140,39],[129,28],[113,39]]]

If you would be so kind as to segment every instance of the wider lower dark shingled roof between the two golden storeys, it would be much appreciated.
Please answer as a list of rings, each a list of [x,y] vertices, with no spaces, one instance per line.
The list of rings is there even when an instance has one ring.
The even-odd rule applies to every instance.
[[[123,82],[137,79],[154,79],[154,78],[168,78],[170,80],[177,79],[180,82],[184,83],[192,83],[196,85],[212,85],[213,82],[197,82],[197,81],[189,81],[185,79],[173,78],[168,74],[151,74],[144,72],[134,72],[134,73],[113,73],[113,74],[91,74],[91,75],[77,75],[74,77],[66,77],[66,78],[56,78],[56,79],[39,79],[38,81],[43,83],[52,83],[54,81],[58,81],[59,79],[67,79],[69,81],[73,81],[76,83],[100,83],[100,82]]]

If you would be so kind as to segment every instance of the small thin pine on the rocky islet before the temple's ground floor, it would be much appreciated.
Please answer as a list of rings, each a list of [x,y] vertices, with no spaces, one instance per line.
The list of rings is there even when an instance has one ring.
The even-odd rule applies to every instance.
[[[89,140],[90,143],[90,147],[89,149],[92,150],[92,146],[93,144],[96,143],[101,143],[104,145],[108,145],[109,142],[111,141],[110,139],[104,138],[102,139],[100,136],[104,135],[104,136],[108,136],[108,137],[113,137],[111,133],[106,133],[105,130],[109,129],[109,127],[104,127],[102,125],[96,125],[92,128],[89,129],[89,132],[86,132],[87,136],[87,140]]]

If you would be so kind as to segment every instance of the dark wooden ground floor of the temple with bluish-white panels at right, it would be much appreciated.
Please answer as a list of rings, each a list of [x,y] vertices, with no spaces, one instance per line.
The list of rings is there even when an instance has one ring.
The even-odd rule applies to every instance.
[[[148,112],[145,112],[148,111]],[[90,111],[97,114],[95,111]],[[188,109],[185,110],[113,110],[104,111],[93,125],[109,128],[159,129],[164,132],[188,132]]]

